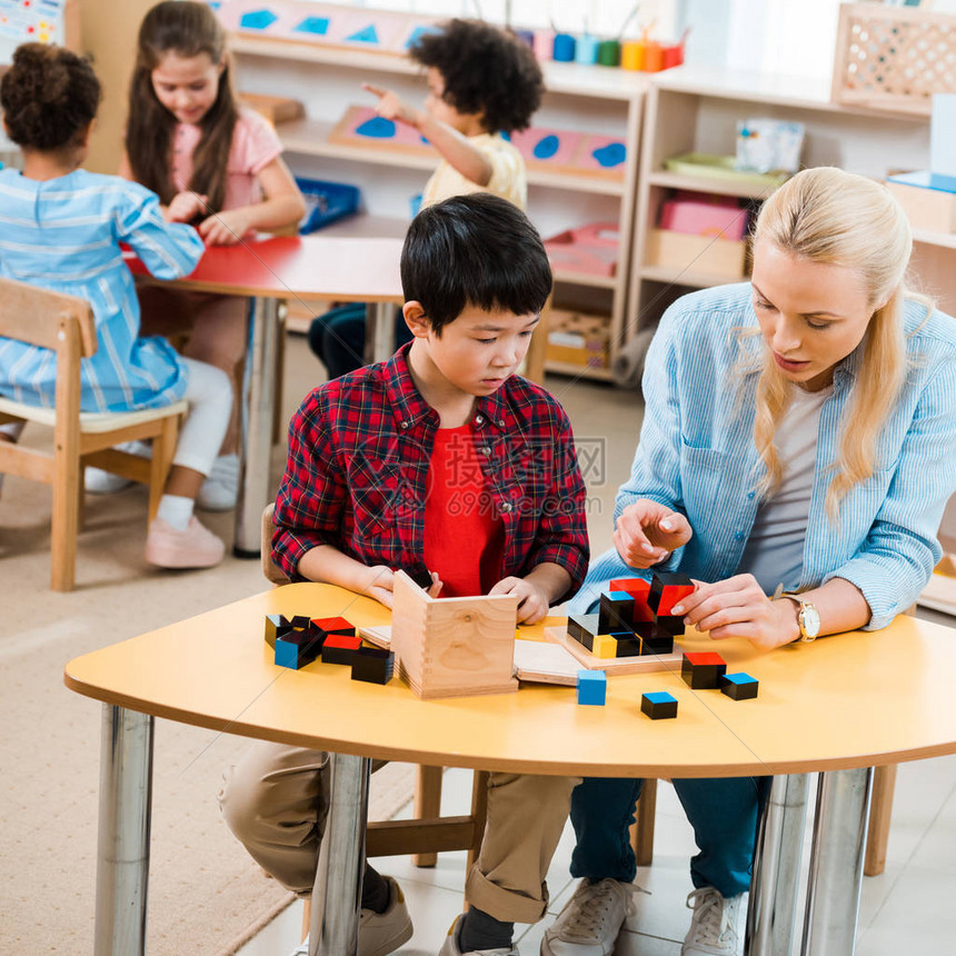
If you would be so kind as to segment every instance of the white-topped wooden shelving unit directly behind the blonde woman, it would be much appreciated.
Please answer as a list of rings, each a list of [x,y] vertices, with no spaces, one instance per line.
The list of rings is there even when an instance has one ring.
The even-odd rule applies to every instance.
[[[695,270],[693,262],[674,268],[649,265],[647,240],[657,226],[661,203],[677,189],[736,197],[759,207],[771,188],[681,176],[665,168],[667,159],[685,152],[733,155],[737,120],[754,117],[803,122],[806,167],[839,166],[884,179],[892,171],[890,165],[894,170],[919,169],[929,156],[929,125],[925,118],[831,103],[829,89],[823,82],[691,67],[658,74],[645,110],[627,340],[653,328],[679,296],[744,278],[707,275]],[[956,248],[956,237],[920,233],[915,238],[920,278],[945,296],[952,281],[946,281],[942,256],[948,256],[952,275],[954,260],[948,250]]]

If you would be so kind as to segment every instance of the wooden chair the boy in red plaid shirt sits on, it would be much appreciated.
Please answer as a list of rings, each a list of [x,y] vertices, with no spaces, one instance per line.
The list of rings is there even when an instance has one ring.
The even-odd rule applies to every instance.
[[[272,540],[272,510],[262,511],[262,572],[275,585],[289,579],[270,556]],[[465,816],[442,817],[441,767],[419,766],[415,787],[414,818],[409,820],[376,820],[366,830],[367,856],[410,855],[416,866],[435,866],[438,854],[467,849],[468,867],[477,859],[485,834],[488,803],[488,774],[475,771],[471,786],[471,813]],[[308,927],[308,923],[306,924]]]

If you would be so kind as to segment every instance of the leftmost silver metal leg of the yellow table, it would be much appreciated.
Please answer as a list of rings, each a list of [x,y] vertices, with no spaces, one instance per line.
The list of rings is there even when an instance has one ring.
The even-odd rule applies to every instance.
[[[148,714],[103,705],[94,956],[146,953],[152,726]]]

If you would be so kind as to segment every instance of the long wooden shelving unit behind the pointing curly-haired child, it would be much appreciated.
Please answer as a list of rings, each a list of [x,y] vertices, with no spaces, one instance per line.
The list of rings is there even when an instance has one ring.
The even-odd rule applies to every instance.
[[[420,70],[407,57],[385,52],[342,50],[232,33],[237,88],[301,100],[306,118],[277,127],[287,160],[296,175],[340,179],[358,185],[369,215],[337,223],[342,235],[401,235],[408,222],[407,198],[419,192],[438,165],[438,155],[349,146],[329,139],[350,103],[371,104],[364,81],[388,86],[412,102],[421,102],[425,84]],[[535,126],[620,137],[628,159],[619,178],[607,173],[528,170],[528,215],[547,238],[594,221],[618,226],[620,255],[613,277],[555,271],[555,305],[582,309],[607,319],[610,357],[621,341],[638,153],[645,93],[645,74],[599,66],[544,63],[547,93]],[[388,176],[382,176],[384,168]],[[588,378],[610,379],[606,368],[548,362],[548,370]]]

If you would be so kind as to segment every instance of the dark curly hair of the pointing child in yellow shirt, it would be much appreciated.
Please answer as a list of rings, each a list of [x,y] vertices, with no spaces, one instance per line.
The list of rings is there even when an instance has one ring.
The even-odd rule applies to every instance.
[[[484,113],[488,132],[527,129],[541,104],[545,81],[535,54],[490,23],[449,20],[440,32],[422,33],[408,52],[441,73],[449,106]]]

